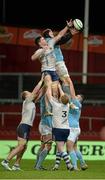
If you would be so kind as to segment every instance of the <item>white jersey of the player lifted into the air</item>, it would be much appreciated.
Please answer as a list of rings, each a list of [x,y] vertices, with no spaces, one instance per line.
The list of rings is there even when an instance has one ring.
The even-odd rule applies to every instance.
[[[56,56],[54,54],[54,42],[53,40],[49,44],[49,48],[45,50],[44,54],[40,56],[41,72],[43,71],[56,71]],[[39,49],[40,50],[40,49]]]

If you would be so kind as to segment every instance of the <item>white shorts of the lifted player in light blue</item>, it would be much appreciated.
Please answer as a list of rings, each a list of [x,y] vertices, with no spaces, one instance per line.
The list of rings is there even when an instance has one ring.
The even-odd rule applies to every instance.
[[[69,77],[69,73],[64,61],[56,63],[56,72],[59,78]]]

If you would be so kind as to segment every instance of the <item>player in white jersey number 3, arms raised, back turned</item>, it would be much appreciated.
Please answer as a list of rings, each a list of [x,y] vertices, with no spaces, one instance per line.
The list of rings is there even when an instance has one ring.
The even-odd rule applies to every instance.
[[[59,101],[56,101],[56,99],[53,98],[51,93],[51,86],[48,87],[46,92],[49,102],[52,105],[52,134],[56,142],[57,150],[63,158],[63,160],[65,161],[67,169],[72,170],[73,167],[70,163],[68,154],[64,150],[64,145],[69,135],[69,97],[66,94],[64,94],[60,84],[58,84],[58,87],[60,93]]]

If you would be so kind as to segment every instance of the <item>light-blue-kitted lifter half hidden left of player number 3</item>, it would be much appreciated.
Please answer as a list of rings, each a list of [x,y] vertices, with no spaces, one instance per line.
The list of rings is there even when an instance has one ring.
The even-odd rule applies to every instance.
[[[50,105],[49,107],[51,108]],[[51,109],[49,110],[52,111]],[[36,170],[46,170],[42,165],[52,146],[52,116],[45,116],[45,112],[46,107],[44,95],[40,99],[41,120],[39,123],[39,132],[41,135],[41,145],[37,153],[37,159],[35,161],[34,168]]]

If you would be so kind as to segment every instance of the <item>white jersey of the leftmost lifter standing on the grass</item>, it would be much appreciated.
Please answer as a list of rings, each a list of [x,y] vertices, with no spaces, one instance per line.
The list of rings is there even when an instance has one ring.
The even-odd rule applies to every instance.
[[[30,126],[33,126],[33,122],[35,119],[35,113],[36,113],[36,106],[35,103],[32,101],[32,98],[26,98],[23,101],[22,106],[22,120],[20,124],[28,124]]]

